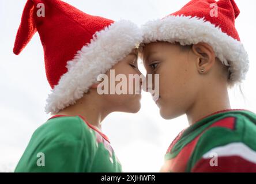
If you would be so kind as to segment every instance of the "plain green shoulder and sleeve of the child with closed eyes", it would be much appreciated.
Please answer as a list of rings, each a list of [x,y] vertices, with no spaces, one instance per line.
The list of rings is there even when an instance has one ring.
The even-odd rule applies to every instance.
[[[95,156],[95,140],[79,116],[51,118],[33,133],[16,172],[86,171]],[[41,159],[45,167],[38,166]]]

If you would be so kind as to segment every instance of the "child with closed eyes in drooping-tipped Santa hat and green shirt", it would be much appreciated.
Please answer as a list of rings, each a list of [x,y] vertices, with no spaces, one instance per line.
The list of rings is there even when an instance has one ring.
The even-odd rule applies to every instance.
[[[16,55],[36,31],[52,87],[46,105],[52,117],[33,133],[15,171],[121,172],[101,121],[111,112],[138,112],[141,95],[100,95],[97,77],[110,76],[110,69],[115,75],[141,74],[135,49],[142,41],[140,29],[129,21],[91,16],[62,1],[28,0]]]

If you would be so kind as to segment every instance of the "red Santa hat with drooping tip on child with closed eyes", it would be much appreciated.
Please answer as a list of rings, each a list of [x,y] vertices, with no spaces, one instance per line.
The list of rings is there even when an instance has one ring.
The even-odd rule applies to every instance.
[[[16,55],[36,31],[52,88],[47,113],[75,104],[99,74],[106,73],[142,41],[140,29],[130,21],[91,16],[59,0],[27,1],[13,48]]]

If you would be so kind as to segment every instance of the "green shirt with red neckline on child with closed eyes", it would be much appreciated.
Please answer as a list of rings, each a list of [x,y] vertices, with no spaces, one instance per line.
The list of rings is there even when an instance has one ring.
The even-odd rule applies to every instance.
[[[56,115],[33,133],[14,172],[122,172],[106,135],[82,116]]]

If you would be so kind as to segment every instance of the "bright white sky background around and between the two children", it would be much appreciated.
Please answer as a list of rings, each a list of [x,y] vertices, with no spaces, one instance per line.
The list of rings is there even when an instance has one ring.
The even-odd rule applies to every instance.
[[[44,71],[43,48],[36,33],[19,56],[12,53],[25,0],[0,0],[0,171],[13,171],[27,147],[33,131],[50,117],[44,113],[50,86]],[[65,2],[86,13],[112,20],[129,19],[138,25],[162,18],[188,0],[97,0]],[[236,28],[250,57],[250,71],[243,83],[243,99],[238,88],[229,91],[232,108],[256,112],[256,25],[254,0],[236,0],[240,15]],[[75,34],[75,33],[74,33]],[[142,73],[145,70],[140,66]],[[186,116],[163,120],[150,94],[142,93],[137,114],[112,113],[103,122],[123,171],[157,172],[168,145],[188,126]]]

